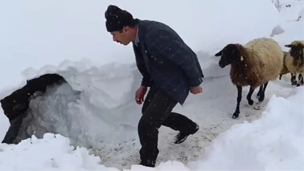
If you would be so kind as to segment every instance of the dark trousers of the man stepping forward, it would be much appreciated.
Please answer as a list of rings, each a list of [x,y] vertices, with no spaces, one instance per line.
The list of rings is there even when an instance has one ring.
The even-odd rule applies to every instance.
[[[171,112],[177,102],[164,90],[152,88],[149,90],[142,107],[142,117],[138,123],[140,138],[140,159],[156,161],[158,155],[158,128],[161,125],[170,127],[175,131],[190,132],[196,124],[189,118]]]

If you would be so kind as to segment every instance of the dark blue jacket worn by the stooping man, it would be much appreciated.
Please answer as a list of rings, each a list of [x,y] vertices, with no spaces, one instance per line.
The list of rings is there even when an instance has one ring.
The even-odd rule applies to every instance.
[[[196,54],[166,24],[136,20],[138,42],[133,42],[133,50],[143,75],[141,85],[162,88],[182,105],[190,87],[203,82]]]

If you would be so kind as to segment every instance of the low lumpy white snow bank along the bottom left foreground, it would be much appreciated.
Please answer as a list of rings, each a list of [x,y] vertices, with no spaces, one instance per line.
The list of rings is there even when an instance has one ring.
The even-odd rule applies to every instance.
[[[2,170],[99,170],[119,171],[116,168],[105,167],[100,158],[89,155],[87,149],[70,145],[68,138],[60,134],[44,134],[43,139],[35,136],[23,140],[18,145],[0,144],[0,168]],[[31,157],[29,157],[31,156]],[[13,160],[12,160],[13,159]],[[37,162],[39,161],[39,162]],[[128,169],[129,170],[129,169]],[[143,170],[185,170],[182,163],[161,163],[156,169],[133,165],[131,171]],[[127,171],[126,169],[124,171]]]

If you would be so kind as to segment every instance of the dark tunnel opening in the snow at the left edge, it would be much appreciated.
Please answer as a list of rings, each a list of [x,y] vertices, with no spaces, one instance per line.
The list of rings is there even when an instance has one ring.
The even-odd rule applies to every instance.
[[[26,117],[29,103],[33,96],[44,94],[47,87],[51,85],[61,85],[67,83],[66,80],[58,74],[45,74],[38,78],[27,80],[26,85],[18,89],[9,96],[1,99],[1,106],[6,117],[9,118],[11,126],[7,131],[2,143],[12,144],[20,130],[22,120]],[[15,143],[16,144],[16,143]]]

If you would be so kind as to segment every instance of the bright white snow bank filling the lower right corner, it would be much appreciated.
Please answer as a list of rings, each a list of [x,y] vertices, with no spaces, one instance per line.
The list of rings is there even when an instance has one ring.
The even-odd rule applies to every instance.
[[[303,170],[304,87],[269,100],[262,117],[219,134],[192,170]]]

